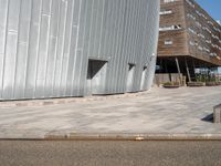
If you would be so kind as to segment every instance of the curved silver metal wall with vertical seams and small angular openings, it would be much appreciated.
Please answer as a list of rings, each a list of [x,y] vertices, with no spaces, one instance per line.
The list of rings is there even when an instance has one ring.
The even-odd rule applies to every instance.
[[[159,0],[0,0],[0,100],[149,89],[158,13]]]

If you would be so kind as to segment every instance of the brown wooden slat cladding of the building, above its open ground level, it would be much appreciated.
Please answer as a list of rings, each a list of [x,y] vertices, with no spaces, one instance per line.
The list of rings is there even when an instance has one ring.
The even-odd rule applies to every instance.
[[[188,58],[209,66],[221,65],[221,25],[193,0],[161,0],[160,28],[180,29],[159,32],[158,59]],[[172,43],[166,44],[166,41]]]

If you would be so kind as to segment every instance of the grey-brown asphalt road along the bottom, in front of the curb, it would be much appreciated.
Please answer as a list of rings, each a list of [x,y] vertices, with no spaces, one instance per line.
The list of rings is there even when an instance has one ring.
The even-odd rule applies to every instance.
[[[0,142],[0,166],[220,166],[221,142]]]

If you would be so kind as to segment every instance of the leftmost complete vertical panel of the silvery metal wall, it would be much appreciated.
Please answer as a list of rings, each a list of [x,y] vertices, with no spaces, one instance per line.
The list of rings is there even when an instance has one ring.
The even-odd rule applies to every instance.
[[[20,0],[9,1],[8,30],[3,69],[3,92],[6,100],[13,98],[14,75],[17,65],[18,29],[20,19]]]

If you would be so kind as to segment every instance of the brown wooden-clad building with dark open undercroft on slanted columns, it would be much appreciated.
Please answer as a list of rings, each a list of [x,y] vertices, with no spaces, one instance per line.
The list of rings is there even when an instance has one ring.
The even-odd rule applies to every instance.
[[[161,0],[158,73],[182,73],[221,65],[221,25],[193,0]]]

